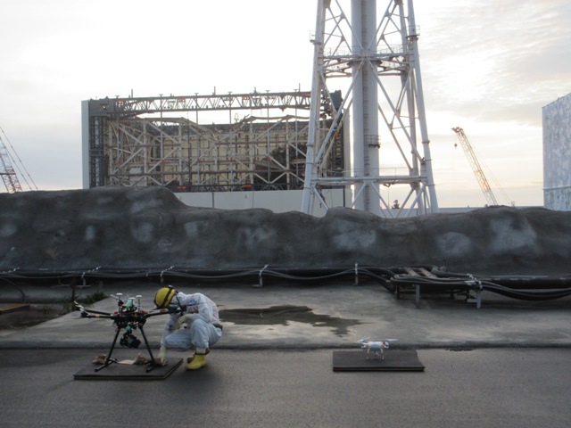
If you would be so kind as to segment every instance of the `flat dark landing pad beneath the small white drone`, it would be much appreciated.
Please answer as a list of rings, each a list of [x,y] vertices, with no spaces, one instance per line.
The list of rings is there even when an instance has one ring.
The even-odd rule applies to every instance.
[[[423,372],[416,350],[389,350],[385,359],[369,356],[363,350],[334,350],[334,372]]]

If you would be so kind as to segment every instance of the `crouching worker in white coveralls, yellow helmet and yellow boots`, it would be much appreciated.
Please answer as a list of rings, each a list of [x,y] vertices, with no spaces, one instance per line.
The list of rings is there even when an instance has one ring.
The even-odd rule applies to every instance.
[[[186,359],[186,369],[205,366],[210,347],[222,337],[216,303],[200,292],[185,294],[168,286],[156,292],[154,304],[158,309],[179,309],[164,325],[157,362],[167,364],[167,350],[194,350]]]

